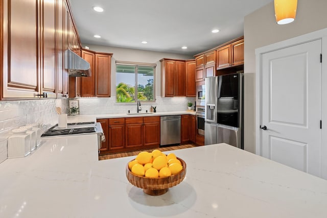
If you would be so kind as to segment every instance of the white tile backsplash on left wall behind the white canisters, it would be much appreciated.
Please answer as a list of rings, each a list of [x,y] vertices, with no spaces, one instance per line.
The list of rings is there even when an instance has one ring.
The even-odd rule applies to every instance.
[[[56,107],[66,113],[66,99],[0,101],[0,163],[7,159],[11,130],[30,123],[53,126],[58,123]]]

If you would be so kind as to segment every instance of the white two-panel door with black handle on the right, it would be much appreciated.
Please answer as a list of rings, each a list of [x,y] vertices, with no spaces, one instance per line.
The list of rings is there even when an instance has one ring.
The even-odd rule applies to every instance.
[[[321,39],[261,56],[260,155],[318,177],[321,177],[320,54]]]

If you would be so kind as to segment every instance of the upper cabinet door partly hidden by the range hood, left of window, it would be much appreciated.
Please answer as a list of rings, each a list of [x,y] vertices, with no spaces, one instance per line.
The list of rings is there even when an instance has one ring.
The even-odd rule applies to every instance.
[[[82,50],[82,58],[90,64],[91,76],[81,78],[81,96],[94,97],[96,90],[95,54]]]

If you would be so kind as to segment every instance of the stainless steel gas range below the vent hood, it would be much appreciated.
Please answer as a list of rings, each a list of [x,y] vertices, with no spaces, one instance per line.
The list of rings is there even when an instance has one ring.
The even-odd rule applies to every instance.
[[[103,129],[100,123],[83,122],[83,123],[68,123],[67,128],[59,128],[58,124],[45,131],[41,137],[68,136],[68,135],[98,135],[98,149],[101,148],[101,143],[106,140]]]

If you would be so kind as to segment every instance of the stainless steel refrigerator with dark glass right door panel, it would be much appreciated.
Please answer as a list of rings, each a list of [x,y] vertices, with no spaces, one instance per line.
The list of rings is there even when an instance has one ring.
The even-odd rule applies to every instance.
[[[243,149],[243,74],[205,78],[204,144]]]

